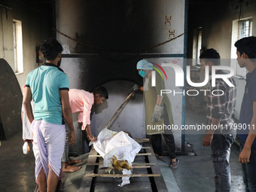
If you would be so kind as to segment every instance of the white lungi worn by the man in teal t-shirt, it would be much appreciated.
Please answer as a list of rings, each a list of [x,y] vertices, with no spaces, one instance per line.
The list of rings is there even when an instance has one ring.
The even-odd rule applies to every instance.
[[[38,178],[42,168],[47,178],[48,164],[59,177],[61,157],[65,146],[65,125],[47,123],[44,120],[33,120],[31,129],[34,141],[35,179]]]

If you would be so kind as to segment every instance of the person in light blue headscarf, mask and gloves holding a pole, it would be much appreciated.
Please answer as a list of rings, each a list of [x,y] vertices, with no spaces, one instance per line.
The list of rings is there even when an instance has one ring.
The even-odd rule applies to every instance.
[[[171,158],[170,167],[178,167],[178,159],[175,156],[175,140],[172,130],[158,129],[173,125],[172,105],[168,96],[160,96],[160,90],[165,90],[163,79],[156,74],[155,86],[151,86],[151,75],[153,72],[153,64],[145,59],[137,63],[139,75],[144,78],[144,86],[139,89],[144,92],[145,111],[146,111],[146,133],[151,136],[151,143],[156,157],[162,157],[162,135],[166,141],[166,145]]]

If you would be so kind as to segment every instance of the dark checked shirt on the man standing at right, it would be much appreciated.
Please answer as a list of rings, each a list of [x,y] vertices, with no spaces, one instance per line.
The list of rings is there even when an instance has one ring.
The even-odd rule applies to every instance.
[[[216,74],[226,73],[218,70]],[[233,78],[228,80],[234,87],[230,87],[223,79],[217,78],[215,87],[210,87],[211,91],[207,92],[206,118],[209,125],[212,124],[213,118],[220,119],[220,125],[224,127],[230,127],[230,123],[234,123],[232,115],[236,106],[236,82]]]

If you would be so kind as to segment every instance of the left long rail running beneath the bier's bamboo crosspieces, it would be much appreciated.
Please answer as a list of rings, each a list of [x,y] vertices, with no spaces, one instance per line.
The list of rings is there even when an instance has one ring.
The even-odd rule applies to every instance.
[[[92,147],[90,150],[90,155],[98,154],[97,151]],[[79,192],[90,192],[91,185],[93,184],[93,178],[86,177],[86,174],[91,174],[94,172],[95,166],[90,166],[88,164],[96,163],[97,157],[90,157],[87,160],[87,167],[85,169],[83,179],[80,185]]]

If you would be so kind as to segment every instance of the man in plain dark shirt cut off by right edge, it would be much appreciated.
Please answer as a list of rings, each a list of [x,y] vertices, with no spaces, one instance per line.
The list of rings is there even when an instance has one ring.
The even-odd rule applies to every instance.
[[[239,162],[245,190],[256,191],[256,37],[242,38],[235,47],[239,66],[248,71],[239,117]]]

